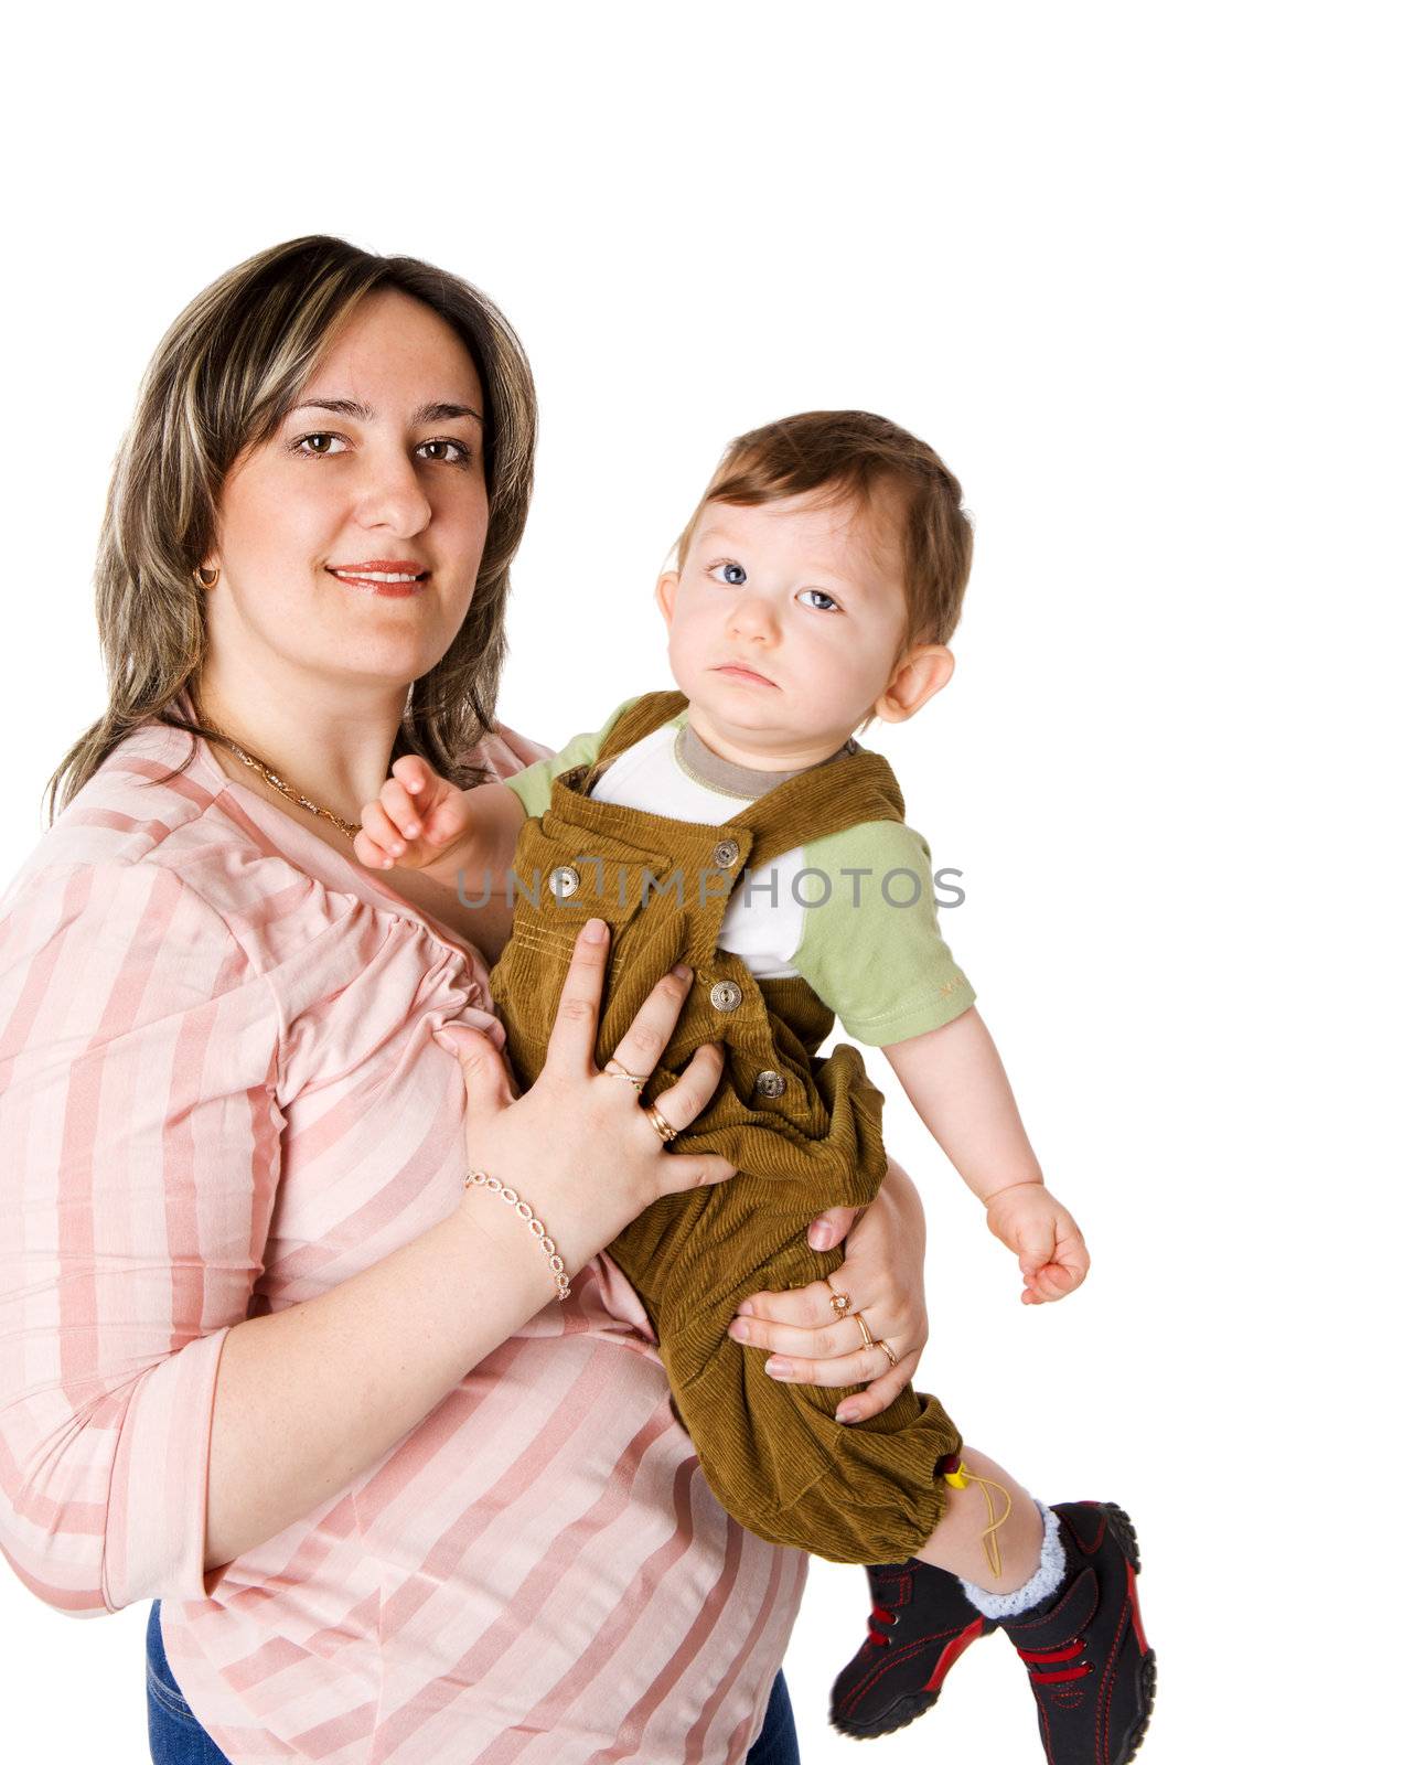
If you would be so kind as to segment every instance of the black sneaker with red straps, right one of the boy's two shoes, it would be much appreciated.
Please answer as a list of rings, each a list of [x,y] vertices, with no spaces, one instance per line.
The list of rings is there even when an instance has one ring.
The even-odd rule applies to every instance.
[[[1049,1765],[1126,1765],[1155,1707],[1155,1652],[1139,1617],[1139,1543],[1114,1502],[1052,1502],[1066,1553],[1059,1588],[1001,1627],[1031,1670]]]

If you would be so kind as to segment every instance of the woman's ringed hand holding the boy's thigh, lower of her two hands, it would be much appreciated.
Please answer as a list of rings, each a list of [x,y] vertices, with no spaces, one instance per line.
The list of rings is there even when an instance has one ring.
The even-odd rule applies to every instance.
[[[752,1348],[770,1350],[766,1368],[775,1377],[809,1386],[865,1386],[835,1410],[839,1421],[856,1423],[893,1403],[916,1373],[929,1340],[923,1204],[891,1158],[877,1198],[860,1214],[831,1207],[810,1225],[809,1243],[812,1250],[830,1250],[846,1234],[846,1258],[828,1283],[752,1294],[741,1303],[729,1334]],[[897,1366],[890,1366],[883,1348],[863,1347],[854,1318],[839,1317],[831,1306],[831,1288],[849,1296],[849,1311],[863,1315],[876,1343],[888,1341]]]

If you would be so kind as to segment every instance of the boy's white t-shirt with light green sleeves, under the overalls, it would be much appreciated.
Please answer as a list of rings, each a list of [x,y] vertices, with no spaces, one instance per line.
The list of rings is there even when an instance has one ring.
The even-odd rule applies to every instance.
[[[553,778],[598,759],[609,731],[634,702],[625,699],[602,729],[574,736],[551,759],[537,761],[505,780],[526,815],[542,815],[549,808]],[[602,794],[678,821],[731,821],[733,801],[759,794],[750,782],[754,775],[706,754],[701,745],[694,755],[697,771],[674,764],[671,757],[681,752],[683,729],[687,738],[681,740],[690,740],[694,732],[687,725],[687,710],[620,755],[600,780]],[[666,791],[653,791],[655,800],[616,794],[614,770],[651,743],[662,750],[655,752],[653,764]],[[669,764],[671,773],[664,770]],[[775,780],[784,777],[775,775]],[[778,872],[775,905],[768,890],[771,870]],[[902,821],[865,821],[826,838],[807,840],[775,865],[763,867],[761,874],[745,874],[727,905],[724,948],[736,948],[727,921],[745,925],[741,914],[757,916],[750,935],[754,951],[763,946],[763,930],[775,937],[775,943],[766,939],[770,957],[763,957],[763,967],[745,950],[738,951],[754,973],[801,974],[846,1033],[869,1047],[888,1047],[939,1029],[976,1001],[937,925],[929,842]],[[771,916],[771,923],[763,925],[761,914]],[[771,962],[784,965],[771,967]]]

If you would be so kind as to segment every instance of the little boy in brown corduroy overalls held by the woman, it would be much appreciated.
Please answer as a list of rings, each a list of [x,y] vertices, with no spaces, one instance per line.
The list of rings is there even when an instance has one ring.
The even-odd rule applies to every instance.
[[[609,1070],[643,1091],[664,1140],[720,1153],[738,1175],[655,1202],[609,1253],[643,1296],[722,1506],[775,1543],[869,1566],[870,1629],[835,1684],[835,1726],[902,1726],[971,1641],[1003,1627],[1029,1664],[1052,1765],[1119,1765],[1155,1684],[1128,1516],[1045,1507],[971,1447],[964,1461],[937,1400],[913,1387],[851,1428],[839,1391],[782,1382],[741,1347],[761,1340],[743,1299],[828,1281],[840,1253],[805,1250],[805,1225],[865,1205],[883,1177],[881,1098],[858,1050],[817,1054],[835,1017],[883,1047],[1017,1253],[1022,1299],[1064,1297],[1087,1269],[939,935],[927,842],[902,819],[888,762],[853,740],[948,683],[969,565],[957,480],[895,424],[821,411],[741,436],[657,586],[680,692],[628,701],[508,784],[461,792],[404,757],[355,851],[466,888],[447,918],[484,950],[510,932],[491,980],[523,1085],[583,918],[613,937],[600,1061],[657,980],[692,967],[658,1068]],[[703,1041],[724,1043],[724,1075],[680,1135],[653,1100],[669,1101]],[[895,1364],[831,1292],[840,1329],[877,1370]]]

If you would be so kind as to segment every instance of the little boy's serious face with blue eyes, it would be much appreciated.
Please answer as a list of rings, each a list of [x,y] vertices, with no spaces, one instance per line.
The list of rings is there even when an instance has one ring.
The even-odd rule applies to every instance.
[[[891,517],[888,503],[872,515],[817,494],[703,508],[658,605],[673,678],[708,740],[782,766],[823,759],[877,708],[907,623]]]

